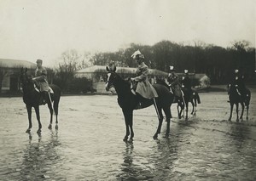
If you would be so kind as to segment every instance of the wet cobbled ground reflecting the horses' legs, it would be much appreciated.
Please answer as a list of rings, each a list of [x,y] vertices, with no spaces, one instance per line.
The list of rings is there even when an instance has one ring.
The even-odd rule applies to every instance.
[[[123,142],[125,123],[115,95],[63,96],[59,129],[43,130],[33,113],[32,133],[21,98],[0,98],[0,180],[255,180],[256,89],[249,120],[228,122],[227,93],[200,93],[189,121],[172,105],[171,135],[166,122],[159,139],[154,107],[134,112],[135,138]],[[190,106],[191,108],[191,106]],[[245,118],[245,116],[244,116]]]

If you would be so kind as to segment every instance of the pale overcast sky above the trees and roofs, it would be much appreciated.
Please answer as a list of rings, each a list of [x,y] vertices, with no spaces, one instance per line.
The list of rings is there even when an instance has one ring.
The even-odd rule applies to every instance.
[[[70,49],[114,52],[131,42],[201,41],[255,48],[254,0],[0,0],[0,59],[54,65]]]

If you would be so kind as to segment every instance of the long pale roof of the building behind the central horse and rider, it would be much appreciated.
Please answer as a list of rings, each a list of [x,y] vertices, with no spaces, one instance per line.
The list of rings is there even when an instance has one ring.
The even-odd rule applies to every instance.
[[[94,72],[107,72],[106,66],[103,65],[93,65],[90,67],[87,67],[85,69],[76,71],[78,74],[83,73],[94,73]],[[117,67],[116,70],[117,73],[124,73],[124,74],[135,74],[137,72],[137,68],[131,68],[131,67]],[[149,69],[149,75],[158,75],[158,76],[167,76],[168,74],[165,71],[158,71],[155,69]]]

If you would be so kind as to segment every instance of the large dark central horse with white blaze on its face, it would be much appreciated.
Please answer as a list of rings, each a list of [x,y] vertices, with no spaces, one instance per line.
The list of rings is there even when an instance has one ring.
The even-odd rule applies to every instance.
[[[125,126],[126,126],[126,134],[124,141],[127,141],[130,131],[131,137],[130,140],[133,140],[134,133],[132,128],[132,116],[133,110],[136,110],[137,107],[137,95],[131,92],[131,83],[122,79],[115,71],[116,67],[109,68],[106,67],[108,71],[108,81],[106,83],[106,90],[108,91],[109,88],[115,88],[116,93],[118,94],[118,103],[121,107],[124,117],[125,117]],[[168,137],[170,133],[170,120],[172,118],[170,106],[172,105],[173,95],[170,93],[168,88],[160,84],[153,85],[156,92],[158,93],[158,98],[148,100],[148,106],[154,105],[155,100],[155,108],[157,110],[158,118],[159,118],[159,125],[157,127],[157,131],[154,134],[154,139],[157,139],[158,134],[160,133],[162,122],[163,122],[163,114],[162,110],[164,110],[166,115],[166,137]]]

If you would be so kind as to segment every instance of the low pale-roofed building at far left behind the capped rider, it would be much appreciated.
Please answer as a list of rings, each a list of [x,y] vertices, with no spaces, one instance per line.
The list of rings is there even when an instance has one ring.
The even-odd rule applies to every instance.
[[[36,64],[18,59],[0,59],[0,93],[15,92],[20,89],[20,69],[34,71]]]

